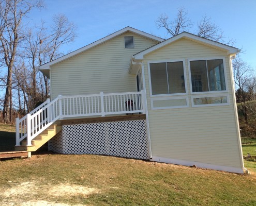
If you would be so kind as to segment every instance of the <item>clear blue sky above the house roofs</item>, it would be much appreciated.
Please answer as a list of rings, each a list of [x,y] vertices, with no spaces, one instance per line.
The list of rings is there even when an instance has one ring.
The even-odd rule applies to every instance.
[[[46,8],[29,15],[32,22],[41,19],[51,22],[54,14],[64,13],[77,26],[76,40],[62,48],[71,52],[97,41],[126,26],[169,38],[164,29],[155,24],[161,13],[175,18],[178,7],[185,7],[189,18],[197,23],[203,15],[215,21],[224,31],[224,36],[236,40],[234,46],[246,52],[243,59],[256,70],[256,1],[255,0],[46,0]],[[191,32],[193,29],[191,29]]]

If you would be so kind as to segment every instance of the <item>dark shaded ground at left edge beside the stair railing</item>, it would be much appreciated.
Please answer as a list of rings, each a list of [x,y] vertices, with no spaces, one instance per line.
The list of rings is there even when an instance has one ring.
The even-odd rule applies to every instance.
[[[15,132],[0,131],[0,151],[13,151],[16,144]]]

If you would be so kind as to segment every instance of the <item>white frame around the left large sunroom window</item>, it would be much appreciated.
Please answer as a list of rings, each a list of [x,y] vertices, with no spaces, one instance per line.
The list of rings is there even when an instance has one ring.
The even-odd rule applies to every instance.
[[[168,63],[168,62],[183,62],[183,72],[184,72],[184,83],[185,83],[185,93],[174,93],[174,94],[152,94],[152,84],[151,84],[151,74],[150,74],[150,64],[151,63]],[[149,94],[150,97],[162,97],[162,96],[179,96],[179,95],[188,95],[188,85],[187,85],[187,74],[186,74],[186,61],[185,59],[163,59],[156,61],[147,62],[148,70],[148,83],[149,83]],[[169,85],[168,85],[169,87]]]

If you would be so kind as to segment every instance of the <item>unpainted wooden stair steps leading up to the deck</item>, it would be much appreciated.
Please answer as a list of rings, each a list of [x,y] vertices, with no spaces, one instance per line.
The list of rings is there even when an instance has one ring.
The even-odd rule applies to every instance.
[[[32,141],[32,146],[27,146],[27,141],[21,141],[21,146],[15,146],[16,151],[36,151],[42,145],[46,144],[50,139],[53,138],[59,131],[62,130],[61,125],[51,125],[46,130],[43,130],[37,135]]]

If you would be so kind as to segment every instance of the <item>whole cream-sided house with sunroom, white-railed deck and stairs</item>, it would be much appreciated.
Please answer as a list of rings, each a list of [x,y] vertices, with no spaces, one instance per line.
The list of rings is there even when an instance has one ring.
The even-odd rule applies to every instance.
[[[16,148],[50,140],[60,153],[243,173],[231,62],[238,52],[188,32],[164,40],[121,29],[40,66],[51,100],[17,119]]]

